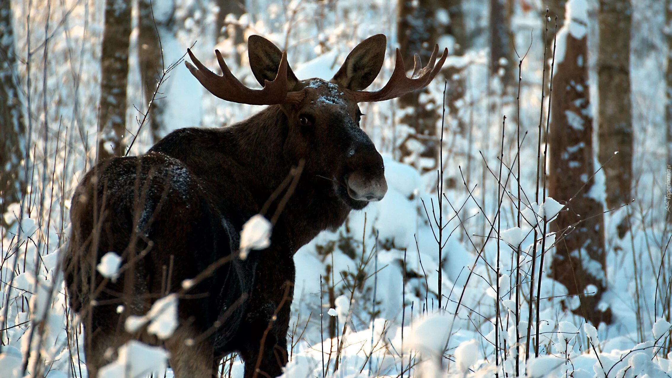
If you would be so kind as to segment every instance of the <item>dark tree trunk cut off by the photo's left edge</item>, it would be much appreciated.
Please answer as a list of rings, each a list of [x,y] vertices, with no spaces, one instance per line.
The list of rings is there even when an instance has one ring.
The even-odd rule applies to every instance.
[[[24,117],[15,81],[16,53],[11,1],[0,1],[0,216],[7,205],[21,201],[26,186],[22,161],[25,156]],[[4,222],[0,220],[0,225]],[[1,237],[1,236],[0,236]]]

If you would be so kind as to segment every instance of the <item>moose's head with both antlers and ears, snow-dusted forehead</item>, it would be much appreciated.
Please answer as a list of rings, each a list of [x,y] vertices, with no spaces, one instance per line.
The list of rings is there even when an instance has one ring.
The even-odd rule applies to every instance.
[[[298,80],[281,52],[269,40],[250,36],[249,62],[263,89],[250,89],[230,72],[222,54],[215,50],[222,76],[212,73],[188,50],[195,66],[185,62],[192,75],[213,95],[251,105],[279,105],[288,129],[284,155],[293,161],[306,159],[305,170],[332,182],[335,195],[351,209],[380,201],[387,191],[382,157],[362,129],[358,103],[384,101],[428,85],[441,69],[448,50],[436,62],[438,45],[429,64],[422,67],[415,55],[411,77],[401,52],[388,83],[378,91],[364,91],[378,76],[385,56],[386,37],[377,34],[356,46],[331,80]]]

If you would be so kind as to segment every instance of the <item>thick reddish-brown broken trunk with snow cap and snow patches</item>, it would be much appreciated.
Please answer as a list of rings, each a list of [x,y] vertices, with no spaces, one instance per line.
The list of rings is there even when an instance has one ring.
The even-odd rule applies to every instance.
[[[556,56],[552,83],[548,195],[561,203],[576,197],[551,225],[558,232],[551,275],[569,295],[580,294],[569,297],[581,301],[573,312],[597,325],[611,322],[612,316],[609,309],[597,308],[606,285],[603,204],[589,195],[593,181],[586,182],[595,172],[587,28],[583,18],[571,22],[564,57]],[[595,293],[583,295],[587,291]],[[565,302],[568,306],[569,300]]]

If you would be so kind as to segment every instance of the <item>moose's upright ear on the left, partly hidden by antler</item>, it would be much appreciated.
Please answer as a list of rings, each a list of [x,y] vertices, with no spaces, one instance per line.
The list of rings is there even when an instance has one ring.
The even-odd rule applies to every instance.
[[[262,36],[249,36],[247,38],[247,56],[254,77],[263,87],[264,81],[274,81],[278,75],[282,51],[273,42]],[[287,90],[291,91],[298,83],[292,68],[287,64]]]

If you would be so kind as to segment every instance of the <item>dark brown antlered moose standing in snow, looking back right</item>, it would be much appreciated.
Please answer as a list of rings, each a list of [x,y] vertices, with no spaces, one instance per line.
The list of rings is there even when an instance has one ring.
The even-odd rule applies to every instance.
[[[329,81],[298,80],[286,52],[261,36],[250,36],[248,49],[263,89],[238,81],[218,50],[222,75],[191,50],[194,64],[185,64],[220,99],[269,106],[228,127],[175,130],[140,156],[102,160],[75,189],[64,270],[89,377],[128,340],[165,347],[177,378],[212,377],[231,352],[245,362],[246,378],[281,375],[294,253],[387,191],[358,103],[422,89],[448,56],[444,49],[437,61],[435,45],[423,67],[416,54],[407,77],[397,49],[388,83],[364,91],[384,61],[382,34],[356,46]],[[257,214],[274,216],[271,244],[242,258],[241,230]],[[116,280],[96,270],[110,251],[122,258]],[[168,293],[179,298],[171,336],[126,331],[129,316]]]

